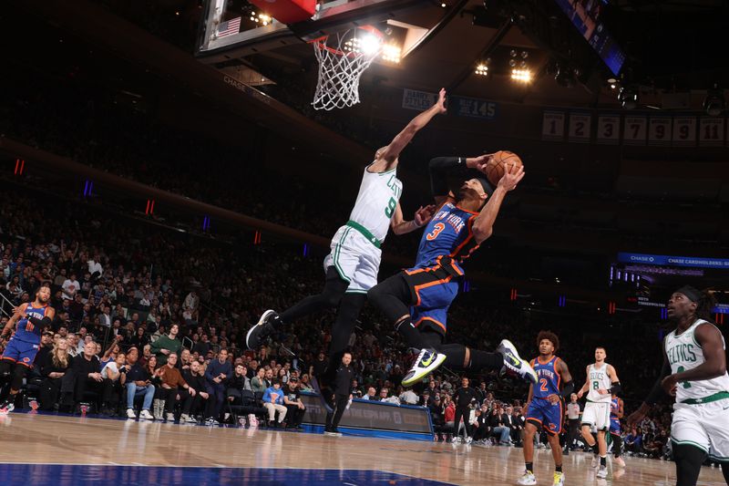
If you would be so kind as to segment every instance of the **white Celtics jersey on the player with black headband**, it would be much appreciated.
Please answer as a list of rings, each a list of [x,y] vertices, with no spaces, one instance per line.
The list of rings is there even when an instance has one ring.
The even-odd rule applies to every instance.
[[[676,336],[676,331],[666,336],[664,341],[666,356],[671,364],[671,373],[681,373],[687,369],[692,369],[701,365],[705,359],[703,350],[696,341],[693,333],[696,327],[702,324],[709,324],[703,319],[697,319],[696,322],[688,329]],[[722,336],[724,343],[724,336]],[[726,350],[726,343],[724,343]],[[723,377],[715,377],[712,379],[703,379],[700,381],[681,381],[676,389],[676,402],[682,403],[691,400],[695,403],[701,403],[703,398],[708,398],[719,392],[729,392],[729,374],[724,372]]]

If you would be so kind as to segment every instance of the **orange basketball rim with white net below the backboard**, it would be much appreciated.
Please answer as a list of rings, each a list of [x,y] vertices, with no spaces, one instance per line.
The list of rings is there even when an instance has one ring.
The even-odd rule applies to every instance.
[[[310,43],[319,61],[314,109],[347,108],[359,103],[359,78],[382,51],[382,32],[356,27]]]

